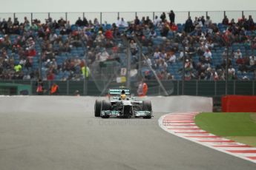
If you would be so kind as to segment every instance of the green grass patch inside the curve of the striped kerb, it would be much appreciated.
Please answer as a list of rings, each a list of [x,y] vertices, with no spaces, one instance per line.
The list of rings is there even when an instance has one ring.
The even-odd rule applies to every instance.
[[[214,135],[256,146],[256,113],[201,113],[195,123]]]

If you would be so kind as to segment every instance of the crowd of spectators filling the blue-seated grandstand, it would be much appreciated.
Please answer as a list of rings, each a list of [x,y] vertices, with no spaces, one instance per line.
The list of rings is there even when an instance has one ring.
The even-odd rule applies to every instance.
[[[189,16],[184,24],[176,24],[171,10],[154,20],[137,16],[128,22],[118,17],[115,23],[105,25],[97,18],[78,18],[74,24],[63,18],[31,23],[26,17],[21,22],[8,18],[0,21],[0,35],[0,79],[37,79],[42,58],[44,80],[82,80],[105,61],[123,64],[119,55],[125,52],[123,36],[129,41],[133,68],[139,69],[142,62],[138,71],[145,79],[154,79],[149,69],[153,68],[161,80],[179,80],[183,61],[186,80],[225,80],[226,63],[230,80],[252,80],[256,75],[252,16],[242,16],[237,22],[225,16],[217,24],[210,16],[198,16],[194,21]],[[146,55],[142,61],[140,45]]]

